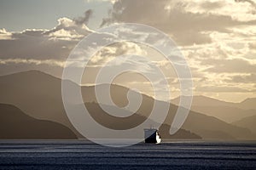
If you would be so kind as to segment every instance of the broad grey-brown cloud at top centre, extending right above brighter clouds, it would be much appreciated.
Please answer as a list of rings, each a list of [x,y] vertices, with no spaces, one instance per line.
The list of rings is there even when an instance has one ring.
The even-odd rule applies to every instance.
[[[217,8],[221,3],[202,3],[203,6]],[[253,21],[233,20],[229,15],[191,13],[185,11],[186,3],[172,0],[119,0],[113,4],[110,17],[102,25],[112,22],[135,22],[154,26],[172,35],[179,45],[211,42],[205,31],[229,32],[228,28],[240,25],[255,25]]]

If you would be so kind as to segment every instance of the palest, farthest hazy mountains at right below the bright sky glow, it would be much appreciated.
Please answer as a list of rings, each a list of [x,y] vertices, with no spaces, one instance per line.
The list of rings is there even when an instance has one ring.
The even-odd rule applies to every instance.
[[[177,105],[179,98],[172,99]],[[247,116],[256,115],[256,99],[245,99],[241,103],[225,102],[205,96],[194,96],[191,106],[192,111],[215,116],[224,122],[236,122]]]

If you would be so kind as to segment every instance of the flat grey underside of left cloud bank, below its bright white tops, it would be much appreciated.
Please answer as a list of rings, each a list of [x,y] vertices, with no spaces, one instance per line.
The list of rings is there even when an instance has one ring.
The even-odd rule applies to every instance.
[[[22,33],[14,39],[0,40],[0,58],[63,59],[68,56],[76,41],[50,40],[49,37],[32,37]]]

